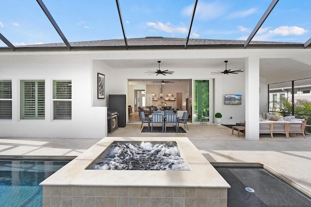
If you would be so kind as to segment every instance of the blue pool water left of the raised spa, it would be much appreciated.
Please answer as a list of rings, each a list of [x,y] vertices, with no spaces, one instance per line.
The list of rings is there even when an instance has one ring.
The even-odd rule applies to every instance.
[[[69,161],[0,161],[0,207],[42,207],[43,180]]]

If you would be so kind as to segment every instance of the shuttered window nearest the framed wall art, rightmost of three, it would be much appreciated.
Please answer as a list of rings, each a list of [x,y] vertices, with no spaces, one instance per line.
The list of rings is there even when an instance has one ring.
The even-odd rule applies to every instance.
[[[53,80],[53,119],[71,120],[71,80]]]

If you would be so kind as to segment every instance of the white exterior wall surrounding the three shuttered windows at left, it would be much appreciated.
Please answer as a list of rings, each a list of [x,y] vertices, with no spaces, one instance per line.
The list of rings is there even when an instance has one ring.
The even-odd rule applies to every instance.
[[[0,55],[0,78],[12,80],[12,120],[0,120],[0,137],[104,138],[106,107],[94,107],[91,103],[94,81],[91,65],[87,55],[79,54],[29,52]],[[45,80],[45,120],[19,120],[19,81],[24,79]],[[72,81],[72,120],[56,121],[52,118],[54,79]]]

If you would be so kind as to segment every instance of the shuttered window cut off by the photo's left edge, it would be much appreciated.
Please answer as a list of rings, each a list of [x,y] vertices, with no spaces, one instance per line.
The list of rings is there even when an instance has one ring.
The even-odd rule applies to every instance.
[[[12,81],[0,80],[0,119],[12,119]]]

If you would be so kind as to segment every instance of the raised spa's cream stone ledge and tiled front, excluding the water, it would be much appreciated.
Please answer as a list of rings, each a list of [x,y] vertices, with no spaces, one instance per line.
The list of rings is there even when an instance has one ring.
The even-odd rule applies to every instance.
[[[114,141],[176,142],[190,171],[86,170]],[[106,137],[40,183],[43,206],[227,206],[225,179],[188,138]]]

